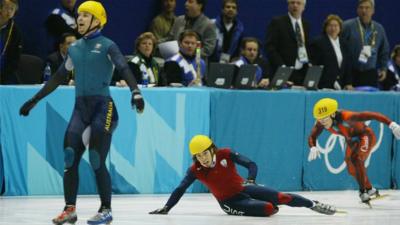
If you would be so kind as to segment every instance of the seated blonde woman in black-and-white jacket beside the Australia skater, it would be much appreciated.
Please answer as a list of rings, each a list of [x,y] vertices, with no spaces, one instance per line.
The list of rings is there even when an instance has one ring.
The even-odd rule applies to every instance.
[[[138,84],[149,86],[164,86],[160,76],[160,68],[153,58],[157,39],[151,32],[141,34],[135,41],[135,55],[128,61]],[[144,81],[145,79],[145,81]],[[116,82],[116,86],[127,87],[125,80]]]

